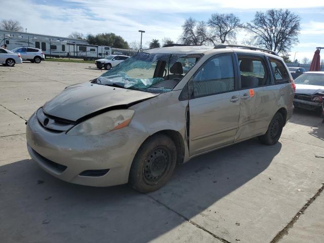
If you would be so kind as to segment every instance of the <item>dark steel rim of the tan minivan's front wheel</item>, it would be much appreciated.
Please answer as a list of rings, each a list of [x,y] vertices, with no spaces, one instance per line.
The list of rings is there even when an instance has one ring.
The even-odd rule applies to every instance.
[[[148,182],[156,182],[166,174],[169,166],[170,152],[168,149],[154,149],[144,161],[144,177]]]

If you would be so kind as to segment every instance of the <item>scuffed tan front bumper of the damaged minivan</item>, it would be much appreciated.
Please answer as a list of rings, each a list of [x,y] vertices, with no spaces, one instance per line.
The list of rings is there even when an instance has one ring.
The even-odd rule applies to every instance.
[[[75,184],[113,186],[128,182],[133,158],[144,134],[126,127],[102,136],[72,136],[46,130],[35,114],[26,127],[27,149],[49,174]],[[109,171],[102,176],[81,176],[88,170]]]

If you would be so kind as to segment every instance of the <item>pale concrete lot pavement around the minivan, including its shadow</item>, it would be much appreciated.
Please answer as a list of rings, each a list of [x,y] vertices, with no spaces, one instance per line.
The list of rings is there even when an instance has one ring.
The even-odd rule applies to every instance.
[[[102,72],[88,63],[0,66],[0,242],[324,242],[324,158],[315,157],[324,124],[310,112],[296,111],[276,145],[252,139],[196,157],[146,195],[45,173],[27,153],[25,120]]]

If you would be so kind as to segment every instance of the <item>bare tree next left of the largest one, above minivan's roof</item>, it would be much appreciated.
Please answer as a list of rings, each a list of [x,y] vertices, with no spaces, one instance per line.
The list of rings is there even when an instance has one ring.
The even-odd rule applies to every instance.
[[[242,24],[234,14],[212,14],[208,26],[216,42],[228,43],[236,40],[237,30],[242,27]]]

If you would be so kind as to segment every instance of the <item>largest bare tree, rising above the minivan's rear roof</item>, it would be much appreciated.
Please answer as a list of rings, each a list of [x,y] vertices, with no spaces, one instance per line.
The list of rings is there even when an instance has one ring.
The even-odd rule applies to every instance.
[[[252,34],[254,44],[275,52],[288,53],[297,43],[301,18],[283,9],[257,12],[245,28]]]

